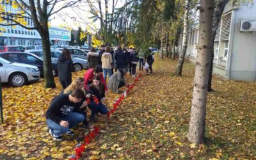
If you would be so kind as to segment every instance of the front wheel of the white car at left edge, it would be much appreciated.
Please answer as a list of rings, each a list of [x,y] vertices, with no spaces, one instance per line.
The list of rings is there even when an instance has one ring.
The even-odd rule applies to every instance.
[[[23,86],[27,82],[27,76],[22,73],[14,73],[9,79],[9,83],[11,86]]]

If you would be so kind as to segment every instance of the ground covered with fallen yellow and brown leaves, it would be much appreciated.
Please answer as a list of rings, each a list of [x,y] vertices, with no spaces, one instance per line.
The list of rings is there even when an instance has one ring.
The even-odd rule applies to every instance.
[[[176,64],[157,59],[154,74],[143,74],[111,118],[99,116],[100,134],[87,146],[83,159],[256,159],[256,83],[213,77],[207,143],[195,146],[186,140],[195,67],[187,61],[183,76],[175,77]],[[73,79],[83,74],[84,70],[77,72]],[[58,79],[56,83],[56,89],[43,89],[43,81],[3,87],[0,159],[67,159],[75,153],[83,128],[61,142],[47,131],[45,111],[61,91]],[[109,93],[108,108],[117,97]]]

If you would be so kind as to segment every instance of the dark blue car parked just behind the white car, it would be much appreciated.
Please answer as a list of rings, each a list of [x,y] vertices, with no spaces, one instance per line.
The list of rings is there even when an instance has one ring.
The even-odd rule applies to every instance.
[[[28,65],[35,65],[40,70],[40,76],[44,77],[44,64],[42,58],[29,52],[4,52],[0,53],[0,57],[8,61],[15,61],[25,63]],[[58,76],[57,63],[52,63],[52,74],[54,77]]]

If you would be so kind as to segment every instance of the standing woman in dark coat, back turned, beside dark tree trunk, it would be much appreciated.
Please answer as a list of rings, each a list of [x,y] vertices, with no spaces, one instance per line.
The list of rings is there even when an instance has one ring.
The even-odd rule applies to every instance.
[[[72,82],[71,72],[75,72],[73,61],[71,60],[70,51],[66,48],[62,50],[61,56],[58,60],[58,77],[63,88],[67,88]]]

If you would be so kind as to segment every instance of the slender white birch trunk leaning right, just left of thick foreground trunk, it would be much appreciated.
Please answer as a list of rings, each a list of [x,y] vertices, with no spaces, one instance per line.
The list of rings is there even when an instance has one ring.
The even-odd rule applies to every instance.
[[[188,14],[189,14],[189,6],[191,0],[186,0],[186,10],[184,17],[184,28],[183,28],[183,43],[182,43],[182,51],[179,55],[178,65],[175,71],[175,76],[182,76],[182,68],[186,55],[186,50],[188,46]]]

